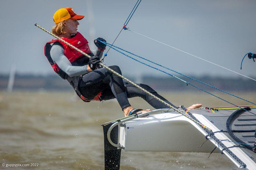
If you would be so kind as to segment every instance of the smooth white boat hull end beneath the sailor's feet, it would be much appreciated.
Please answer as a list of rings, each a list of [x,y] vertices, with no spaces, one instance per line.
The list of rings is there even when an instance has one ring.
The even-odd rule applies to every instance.
[[[125,151],[212,152],[215,148],[206,141],[198,126],[182,115],[150,115],[125,122],[125,125],[126,128],[120,127],[119,136]]]

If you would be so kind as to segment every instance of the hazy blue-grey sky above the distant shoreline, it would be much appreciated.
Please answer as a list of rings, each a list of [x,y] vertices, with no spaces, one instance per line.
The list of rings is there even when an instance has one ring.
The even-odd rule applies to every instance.
[[[95,38],[102,37],[111,43],[136,1],[1,0],[0,74],[8,73],[12,63],[18,73],[53,74],[44,56],[44,44],[52,36],[34,24],[51,30],[56,10],[72,7],[77,14],[85,15],[78,27],[85,38],[90,40],[89,32],[95,32]],[[244,54],[256,53],[255,7],[255,0],[142,0],[128,26],[133,31],[255,77],[256,63],[248,58],[244,59],[243,70],[240,70]],[[93,28],[95,30],[90,30]],[[115,45],[185,74],[236,77],[232,72],[129,31],[122,31]],[[95,49],[93,43],[90,47]],[[104,63],[119,65],[127,76],[163,75],[114,50],[108,52]]]

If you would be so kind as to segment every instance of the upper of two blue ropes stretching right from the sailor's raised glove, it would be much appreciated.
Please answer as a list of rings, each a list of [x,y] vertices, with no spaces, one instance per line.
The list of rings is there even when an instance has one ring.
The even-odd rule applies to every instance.
[[[106,44],[110,45],[108,42],[106,42]],[[165,66],[160,65],[160,64],[158,64],[158,63],[155,63],[155,62],[153,62],[153,61],[150,61],[150,60],[148,60],[148,59],[146,59],[146,58],[143,58],[143,57],[141,57],[141,56],[139,56],[139,55],[133,54],[133,53],[131,53],[131,52],[125,50],[125,49],[119,48],[119,47],[114,46],[114,45],[112,45],[112,46],[115,47],[115,48],[121,49],[121,50],[123,50],[123,51],[125,51],[125,52],[127,52],[127,53],[130,53],[130,54],[132,54],[132,55],[135,55],[135,56],[137,56],[137,57],[139,57],[139,58],[142,58],[142,59],[144,59],[144,60],[146,60],[146,61],[148,61],[148,62],[154,63],[154,64],[156,64],[156,65],[158,65],[158,66],[160,66],[160,67],[163,67],[163,68],[165,68],[165,69],[167,69],[167,70],[171,70],[171,71],[173,71],[173,72],[175,72],[175,73],[178,73],[178,74],[180,74],[180,75],[182,75],[182,76],[185,76],[185,77],[190,78],[190,79],[192,79],[192,80],[195,80],[195,81],[197,81],[197,82],[199,82],[199,83],[202,83],[202,84],[204,84],[204,85],[207,85],[207,86],[209,86],[209,87],[212,87],[212,88],[214,88],[214,89],[216,89],[216,90],[219,90],[219,91],[221,91],[221,92],[224,92],[224,93],[227,93],[227,94],[229,94],[229,95],[231,95],[231,96],[234,96],[234,97],[236,97],[236,98],[238,98],[238,99],[241,99],[241,100],[244,100],[244,101],[247,101],[247,102],[249,102],[249,103],[252,103],[252,104],[256,105],[256,103],[253,103],[253,102],[251,102],[251,101],[249,101],[249,100],[243,99],[243,98],[241,98],[241,97],[239,97],[239,96],[236,96],[236,95],[234,95],[234,94],[231,94],[231,93],[229,93],[229,92],[225,92],[224,90],[221,90],[221,89],[219,89],[219,88],[217,88],[217,87],[214,87],[214,86],[212,86],[212,85],[208,85],[208,84],[206,84],[206,83],[204,83],[204,82],[202,82],[202,81],[199,81],[199,80],[197,80],[197,79],[195,79],[195,78],[192,78],[192,77],[189,77],[189,76],[184,75],[184,74],[182,74],[182,73],[179,73],[179,72],[177,72],[177,71],[175,71],[175,70],[172,70],[172,69],[170,69],[170,68],[168,68],[168,67],[165,67]]]

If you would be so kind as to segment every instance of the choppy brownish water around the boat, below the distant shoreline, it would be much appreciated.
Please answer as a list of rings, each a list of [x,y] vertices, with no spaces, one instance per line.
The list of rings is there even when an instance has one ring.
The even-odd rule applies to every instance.
[[[241,94],[255,101],[252,93]],[[189,95],[172,92],[164,96],[175,99],[177,106],[200,102],[207,107],[226,105],[203,93]],[[140,98],[130,101],[134,107],[153,109]],[[120,117],[123,114],[116,100],[85,103],[72,92],[0,92],[0,163],[38,163],[33,168],[0,169],[104,169],[100,124]],[[236,168],[219,153],[207,157],[207,153],[122,152],[121,169]]]

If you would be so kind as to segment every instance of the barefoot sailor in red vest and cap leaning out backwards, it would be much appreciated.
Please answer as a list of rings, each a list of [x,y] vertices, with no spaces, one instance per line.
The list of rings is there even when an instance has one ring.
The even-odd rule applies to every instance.
[[[100,58],[102,57],[106,45],[95,40],[94,44],[97,49],[90,50],[88,41],[81,33],[77,32],[79,25],[78,20],[83,18],[83,15],[77,15],[70,7],[61,8],[54,13],[53,21],[55,26],[52,27],[52,33],[76,48],[79,48],[91,57],[88,58],[82,55],[58,39],[49,41],[45,45],[44,53],[53,70],[60,75],[61,78],[67,79],[70,85],[73,86],[76,94],[85,102],[116,98],[125,116],[150,111],[150,109],[134,109],[128,101],[128,98],[132,97],[141,97],[156,109],[168,108],[166,105],[132,84],[124,83],[122,78],[116,76],[106,68],[100,67]],[[98,39],[105,41],[103,38]],[[109,66],[109,68],[122,74],[120,68],[116,65]],[[148,85],[138,85],[173,107],[176,107]],[[201,106],[201,104],[196,104],[188,107],[188,109]]]

